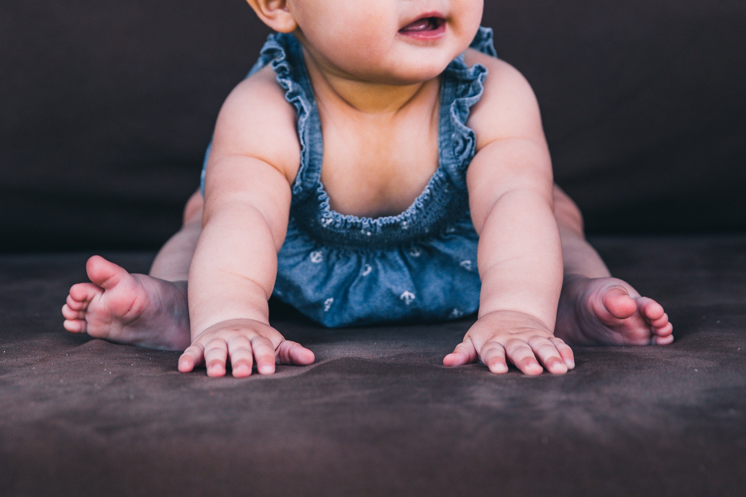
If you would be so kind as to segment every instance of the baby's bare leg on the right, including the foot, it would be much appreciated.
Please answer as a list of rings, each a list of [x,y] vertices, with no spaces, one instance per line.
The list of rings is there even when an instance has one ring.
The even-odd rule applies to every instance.
[[[580,209],[559,187],[554,212],[562,238],[565,280],[554,335],[577,345],[648,345],[674,341],[662,306],[612,278],[583,235]]]

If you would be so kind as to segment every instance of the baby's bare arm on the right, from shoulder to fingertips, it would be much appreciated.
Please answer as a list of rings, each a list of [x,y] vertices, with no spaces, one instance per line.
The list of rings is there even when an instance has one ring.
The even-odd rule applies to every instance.
[[[506,358],[527,374],[565,373],[571,349],[554,337],[562,288],[562,247],[552,204],[552,169],[536,98],[513,67],[468,51],[467,63],[489,69],[468,125],[477,154],[467,186],[471,218],[480,234],[479,319],[447,365],[478,358],[493,373]]]

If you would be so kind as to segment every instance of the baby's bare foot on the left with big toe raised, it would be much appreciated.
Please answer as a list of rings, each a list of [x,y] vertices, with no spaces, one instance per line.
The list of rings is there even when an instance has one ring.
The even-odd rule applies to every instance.
[[[186,282],[130,274],[101,256],[86,270],[93,283],[72,285],[62,308],[67,331],[151,349],[189,346]]]

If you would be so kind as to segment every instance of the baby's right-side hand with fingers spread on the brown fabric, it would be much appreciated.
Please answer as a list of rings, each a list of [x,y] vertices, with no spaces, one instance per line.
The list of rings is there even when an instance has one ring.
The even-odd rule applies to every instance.
[[[543,369],[563,374],[575,367],[572,350],[536,317],[517,311],[485,314],[466,332],[464,341],[443,358],[446,366],[477,361],[492,373],[507,373],[506,356],[527,375],[539,375]]]

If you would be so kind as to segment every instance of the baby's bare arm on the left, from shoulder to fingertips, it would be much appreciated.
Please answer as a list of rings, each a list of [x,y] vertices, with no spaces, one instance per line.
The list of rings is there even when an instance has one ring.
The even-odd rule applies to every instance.
[[[222,376],[228,357],[233,376],[250,374],[254,360],[260,373],[273,373],[275,361],[313,362],[313,352],[269,326],[267,306],[299,162],[295,113],[264,69],[233,90],[216,124],[189,269],[192,345],[179,370],[204,361],[208,375]]]

